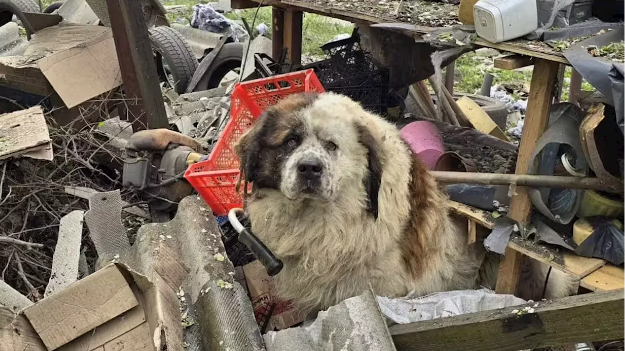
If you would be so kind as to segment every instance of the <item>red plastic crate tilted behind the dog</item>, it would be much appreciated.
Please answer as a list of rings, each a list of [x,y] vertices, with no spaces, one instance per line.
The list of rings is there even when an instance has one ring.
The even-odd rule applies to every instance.
[[[206,161],[189,166],[184,178],[199,192],[216,215],[227,215],[241,207],[243,198],[236,192],[239,159],[234,144],[267,107],[297,92],[324,92],[312,69],[280,74],[234,86],[230,120]]]

